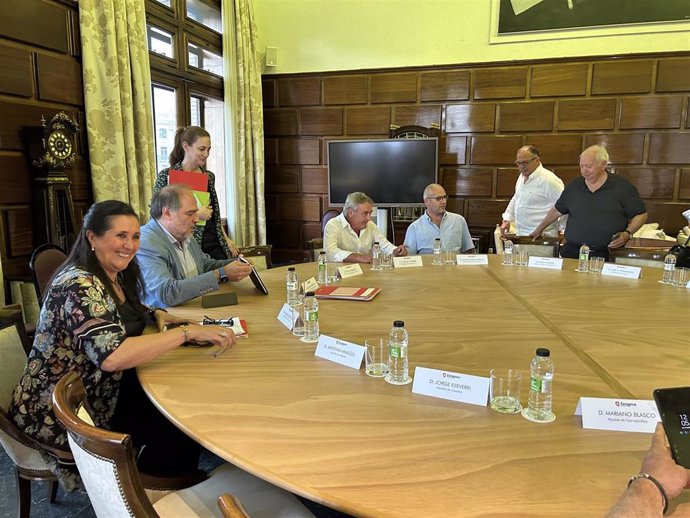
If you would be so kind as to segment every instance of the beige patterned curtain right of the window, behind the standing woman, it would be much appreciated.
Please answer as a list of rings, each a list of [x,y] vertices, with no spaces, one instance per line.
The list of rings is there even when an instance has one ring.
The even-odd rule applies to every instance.
[[[223,1],[226,149],[233,160],[228,176],[228,223],[241,245],[266,244],[264,128],[261,67],[250,0]],[[234,200],[234,203],[232,201]],[[234,205],[234,206],[233,206]]]

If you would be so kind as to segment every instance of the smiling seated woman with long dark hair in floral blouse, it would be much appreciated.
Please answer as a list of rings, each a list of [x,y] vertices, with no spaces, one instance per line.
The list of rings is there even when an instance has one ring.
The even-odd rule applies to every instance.
[[[218,326],[187,324],[140,302],[144,289],[134,257],[139,221],[132,208],[111,200],[94,204],[69,256],[49,283],[26,370],[9,414],[47,449],[69,451],[67,434],[53,413],[52,393],[64,374],[77,372],[94,424],[132,436],[143,473],[197,473],[199,446],[153,406],[135,367],[185,342],[230,346],[235,337]],[[142,335],[155,320],[159,333]],[[163,331],[166,324],[182,324]],[[175,455],[170,455],[175,451]],[[73,468],[42,452],[68,490],[78,487]]]

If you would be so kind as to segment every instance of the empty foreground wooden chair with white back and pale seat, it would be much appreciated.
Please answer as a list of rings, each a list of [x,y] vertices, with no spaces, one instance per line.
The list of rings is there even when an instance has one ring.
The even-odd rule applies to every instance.
[[[130,436],[82,420],[77,412],[83,403],[81,379],[76,373],[66,374],[53,391],[53,408],[67,429],[67,439],[96,516],[205,517],[227,512],[224,516],[232,518],[252,513],[257,518],[313,517],[294,495],[230,464],[217,468],[204,482],[171,491],[152,503],[136,467]],[[219,501],[218,496],[227,491],[238,495],[247,511],[231,497]]]

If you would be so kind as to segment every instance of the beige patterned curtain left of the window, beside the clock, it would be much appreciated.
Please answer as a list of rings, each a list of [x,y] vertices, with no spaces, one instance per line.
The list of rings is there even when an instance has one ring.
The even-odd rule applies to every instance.
[[[156,174],[144,0],[79,0],[79,27],[94,199],[144,223]]]

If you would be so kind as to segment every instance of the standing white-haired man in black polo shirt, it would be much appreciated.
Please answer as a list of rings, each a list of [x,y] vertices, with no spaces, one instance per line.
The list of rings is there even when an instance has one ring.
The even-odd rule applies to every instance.
[[[582,244],[590,257],[609,258],[647,221],[647,209],[633,184],[606,170],[609,154],[602,146],[590,146],[580,155],[580,174],[570,182],[553,208],[530,236],[534,239],[551,223],[568,214],[562,257],[577,258]]]

